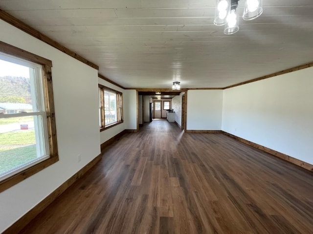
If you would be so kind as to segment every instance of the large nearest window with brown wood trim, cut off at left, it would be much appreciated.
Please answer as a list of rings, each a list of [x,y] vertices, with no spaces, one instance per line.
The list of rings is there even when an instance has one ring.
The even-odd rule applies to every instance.
[[[0,42],[0,191],[58,161],[51,66]]]

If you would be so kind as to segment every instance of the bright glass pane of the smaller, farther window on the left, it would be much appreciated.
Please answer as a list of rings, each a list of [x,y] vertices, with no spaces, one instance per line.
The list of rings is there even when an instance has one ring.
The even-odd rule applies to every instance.
[[[116,93],[112,91],[104,91],[104,115],[106,126],[117,122]]]

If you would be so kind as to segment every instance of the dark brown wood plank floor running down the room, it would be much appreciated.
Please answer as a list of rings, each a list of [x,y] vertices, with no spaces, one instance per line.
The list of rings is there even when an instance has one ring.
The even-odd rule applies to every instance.
[[[22,233],[312,234],[313,174],[224,134],[154,120],[107,148]]]

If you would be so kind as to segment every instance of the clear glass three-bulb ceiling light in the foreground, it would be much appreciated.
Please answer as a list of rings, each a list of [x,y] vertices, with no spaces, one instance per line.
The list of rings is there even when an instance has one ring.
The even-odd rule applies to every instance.
[[[225,25],[224,34],[233,34],[239,30],[238,1],[216,0],[214,24]],[[245,0],[243,15],[245,21],[259,17],[262,12],[262,0]]]

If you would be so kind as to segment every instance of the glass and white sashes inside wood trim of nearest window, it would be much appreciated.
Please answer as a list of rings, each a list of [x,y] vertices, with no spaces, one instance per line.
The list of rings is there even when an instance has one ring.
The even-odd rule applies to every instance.
[[[1,179],[49,157],[42,79],[41,65],[0,54]]]

